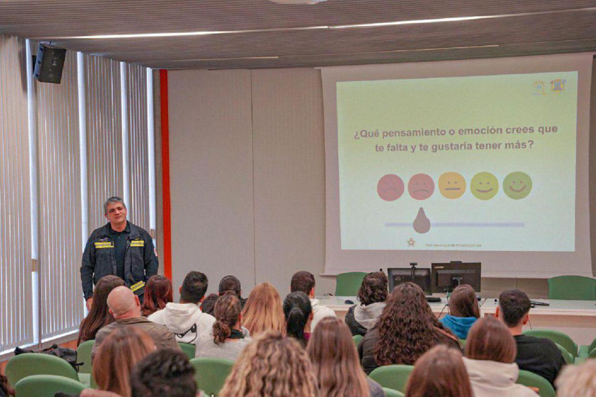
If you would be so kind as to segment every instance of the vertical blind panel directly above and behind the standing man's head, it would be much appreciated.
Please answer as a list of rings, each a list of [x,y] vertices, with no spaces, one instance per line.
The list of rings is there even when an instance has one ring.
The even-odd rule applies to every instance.
[[[107,222],[103,204],[123,196],[120,63],[85,55],[89,230]]]

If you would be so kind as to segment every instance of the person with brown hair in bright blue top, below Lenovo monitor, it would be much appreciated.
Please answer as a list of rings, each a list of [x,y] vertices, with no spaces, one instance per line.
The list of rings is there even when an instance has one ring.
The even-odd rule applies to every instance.
[[[474,289],[467,284],[455,287],[449,297],[449,314],[440,320],[443,326],[458,338],[466,339],[470,328],[479,318],[480,306]]]

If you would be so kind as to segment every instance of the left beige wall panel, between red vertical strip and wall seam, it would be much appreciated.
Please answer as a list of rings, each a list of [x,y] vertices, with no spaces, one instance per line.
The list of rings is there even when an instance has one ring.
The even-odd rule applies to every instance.
[[[235,274],[254,285],[253,157],[248,70],[168,73],[172,274]],[[175,288],[177,290],[177,287]]]

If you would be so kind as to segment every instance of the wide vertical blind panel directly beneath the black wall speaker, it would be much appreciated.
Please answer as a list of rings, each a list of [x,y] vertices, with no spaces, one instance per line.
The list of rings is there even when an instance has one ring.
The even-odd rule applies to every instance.
[[[35,82],[38,133],[41,338],[77,329],[81,203],[76,52],[67,51],[60,84]],[[55,299],[60,291],[60,299]]]

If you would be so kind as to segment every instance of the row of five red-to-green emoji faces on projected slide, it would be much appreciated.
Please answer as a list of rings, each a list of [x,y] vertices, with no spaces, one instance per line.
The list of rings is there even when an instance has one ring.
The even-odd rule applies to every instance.
[[[465,179],[457,172],[439,176],[439,191],[445,198],[460,198],[465,193]],[[511,172],[503,180],[503,191],[508,197],[520,200],[532,190],[532,179],[524,172]],[[395,174],[384,175],[377,184],[377,193],[385,201],[402,197],[405,185]],[[499,181],[490,172],[479,172],[470,181],[470,192],[480,200],[490,200],[499,191]],[[408,182],[408,193],[415,200],[426,200],[434,193],[434,181],[426,173],[417,173]]]

